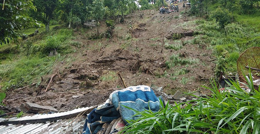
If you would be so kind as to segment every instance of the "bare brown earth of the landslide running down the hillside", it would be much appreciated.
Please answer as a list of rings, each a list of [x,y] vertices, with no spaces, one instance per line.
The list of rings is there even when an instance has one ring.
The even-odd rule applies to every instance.
[[[60,78],[55,77],[51,89],[47,93],[37,95],[38,88],[25,88],[23,91],[14,90],[8,93],[4,100],[5,105],[18,107],[21,103],[32,102],[39,105],[53,106],[57,110],[71,110],[76,107],[93,106],[105,102],[109,94],[124,86],[120,78],[115,74],[119,72],[127,86],[148,85],[152,83],[158,86],[166,86],[165,93],[173,94],[177,90],[194,91],[200,85],[208,83],[213,76],[214,57],[207,46],[181,45],[181,49],[161,49],[163,40],[171,38],[173,33],[187,33],[190,29],[179,24],[194,20],[194,17],[181,15],[182,3],[179,3],[180,12],[171,14],[159,14],[159,11],[144,10],[143,18],[139,18],[138,12],[125,16],[124,24],[116,24],[112,39],[88,39],[95,31],[75,32],[75,41],[84,45],[74,55],[77,60],[73,65],[65,69],[60,63],[55,66],[54,73],[60,72]],[[102,24],[100,31],[106,30]],[[192,39],[187,35],[178,39],[185,41]],[[169,44],[176,44],[176,40],[170,39]],[[136,47],[137,45],[137,47]],[[162,53],[161,53],[162,50]],[[198,59],[194,65],[177,65],[171,69],[166,68],[166,61],[172,54],[180,54],[179,58]],[[173,76],[180,69],[187,69],[185,74]],[[50,75],[51,76],[51,75]],[[44,80],[49,78],[46,76]],[[190,80],[181,84],[181,80]],[[87,83],[94,84],[93,89],[73,89],[84,86]],[[46,85],[44,82],[42,85]]]

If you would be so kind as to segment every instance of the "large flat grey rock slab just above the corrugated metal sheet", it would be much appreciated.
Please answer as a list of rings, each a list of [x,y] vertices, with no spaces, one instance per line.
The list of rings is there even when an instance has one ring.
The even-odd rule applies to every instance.
[[[38,113],[40,111],[45,111],[45,112],[58,112],[57,109],[50,107],[50,106],[42,106],[38,105],[35,103],[25,103],[21,104],[20,107],[21,111],[25,113]]]

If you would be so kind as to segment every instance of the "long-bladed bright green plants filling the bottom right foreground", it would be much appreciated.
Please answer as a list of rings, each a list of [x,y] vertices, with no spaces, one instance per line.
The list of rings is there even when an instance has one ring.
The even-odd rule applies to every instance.
[[[246,77],[250,93],[239,87],[236,82],[220,93],[216,83],[209,89],[209,96],[197,97],[184,103],[163,106],[158,112],[151,110],[139,112],[136,120],[129,120],[124,127],[129,134],[258,134],[260,127],[260,93],[253,86],[252,75]],[[229,91],[227,91],[229,90]],[[191,93],[189,95],[192,95]],[[185,107],[182,107],[186,105]],[[256,133],[257,132],[257,133]]]

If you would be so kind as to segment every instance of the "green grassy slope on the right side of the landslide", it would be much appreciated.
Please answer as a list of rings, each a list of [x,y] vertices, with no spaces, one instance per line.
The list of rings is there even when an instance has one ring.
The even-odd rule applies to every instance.
[[[213,54],[220,57],[224,52],[228,52],[226,62],[222,63],[224,69],[218,71],[236,72],[236,62],[239,55],[250,47],[260,47],[259,13],[249,15],[237,15],[237,21],[227,24],[225,31],[214,21],[194,20],[189,24],[197,34],[191,40],[183,42],[185,44],[205,44],[207,49],[213,49]],[[218,72],[216,72],[217,74]]]

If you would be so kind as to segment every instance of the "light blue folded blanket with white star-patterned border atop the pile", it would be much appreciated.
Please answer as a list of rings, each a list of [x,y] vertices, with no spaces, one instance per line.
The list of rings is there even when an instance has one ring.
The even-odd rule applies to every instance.
[[[128,124],[127,120],[135,120],[138,117],[134,116],[136,113],[127,107],[139,112],[149,110],[149,107],[152,112],[157,112],[160,109],[159,98],[149,86],[144,85],[116,90],[110,94],[109,100],[120,112],[121,118],[126,124]]]

